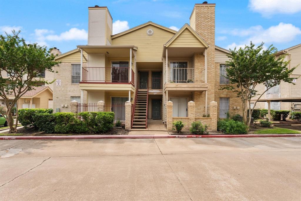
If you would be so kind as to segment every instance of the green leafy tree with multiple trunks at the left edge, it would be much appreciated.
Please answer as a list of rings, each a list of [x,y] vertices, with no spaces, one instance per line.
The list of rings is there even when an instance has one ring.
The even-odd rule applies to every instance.
[[[55,55],[51,54],[51,49],[47,51],[45,46],[36,43],[27,45],[19,34],[20,31],[13,30],[12,35],[7,33],[0,35],[0,97],[4,99],[7,107],[6,120],[9,124],[9,132],[17,132],[18,119],[13,125],[11,113],[17,100],[27,91],[34,90],[34,87],[41,82],[40,73],[54,72],[53,66],[60,63],[54,61]],[[37,77],[41,79],[34,79]],[[51,83],[45,80],[42,82]],[[14,96],[14,99],[8,100],[8,96]]]

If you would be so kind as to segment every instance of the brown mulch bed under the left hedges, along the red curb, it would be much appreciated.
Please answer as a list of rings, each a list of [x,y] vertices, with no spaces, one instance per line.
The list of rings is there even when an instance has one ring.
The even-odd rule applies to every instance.
[[[6,132],[7,133],[7,132]],[[23,134],[23,136],[51,136],[51,135],[129,135],[129,131],[124,130],[123,128],[112,128],[111,130],[105,133],[43,133],[34,128],[20,128],[18,133]]]

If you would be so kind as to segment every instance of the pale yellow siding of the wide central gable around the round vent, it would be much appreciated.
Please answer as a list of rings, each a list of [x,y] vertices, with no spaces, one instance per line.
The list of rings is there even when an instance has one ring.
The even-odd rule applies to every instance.
[[[148,36],[147,29],[153,29],[154,34]],[[172,36],[174,36],[172,32],[148,25],[112,39],[112,45],[135,45],[138,47],[137,62],[156,62],[162,61],[163,44]]]

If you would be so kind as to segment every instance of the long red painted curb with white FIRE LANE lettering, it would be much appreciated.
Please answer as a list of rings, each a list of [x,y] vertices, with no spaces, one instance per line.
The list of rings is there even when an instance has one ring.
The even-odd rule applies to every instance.
[[[57,140],[57,139],[146,139],[146,138],[267,138],[301,137],[301,134],[264,135],[61,135],[61,136],[0,136],[0,140]]]

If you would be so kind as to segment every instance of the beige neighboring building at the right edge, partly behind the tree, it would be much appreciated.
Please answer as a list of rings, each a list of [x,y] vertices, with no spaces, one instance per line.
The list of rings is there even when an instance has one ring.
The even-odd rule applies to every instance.
[[[281,82],[280,85],[272,87],[262,95],[260,102],[256,103],[255,108],[268,109],[268,103],[270,102],[271,110],[301,112],[301,44],[278,51],[276,56],[284,56],[285,61],[290,60],[289,69],[297,66],[291,75],[291,77],[297,78],[293,81],[295,85]],[[266,88],[261,84],[256,86],[256,90],[259,91],[259,94],[262,94]],[[251,107],[253,106],[254,102],[251,104]]]

